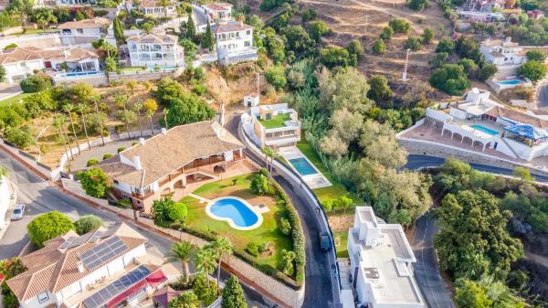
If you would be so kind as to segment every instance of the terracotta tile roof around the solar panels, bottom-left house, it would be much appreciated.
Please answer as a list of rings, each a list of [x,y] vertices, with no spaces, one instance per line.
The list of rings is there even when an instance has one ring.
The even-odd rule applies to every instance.
[[[98,241],[90,242],[89,239],[98,232],[108,234]],[[6,281],[9,288],[16,294],[19,302],[26,302],[28,299],[37,296],[41,292],[56,293],[68,285],[79,281],[92,271],[78,270],[80,255],[90,250],[111,237],[118,237],[127,246],[126,250],[113,256],[110,262],[121,255],[133,250],[147,242],[137,231],[124,223],[109,230],[99,228],[88,234],[79,237],[74,231],[50,239],[44,243],[45,247],[21,258],[26,266],[26,271]],[[71,238],[71,239],[70,239]],[[66,240],[74,239],[73,246],[68,249],[61,249],[59,246]],[[78,242],[78,243],[77,243]]]

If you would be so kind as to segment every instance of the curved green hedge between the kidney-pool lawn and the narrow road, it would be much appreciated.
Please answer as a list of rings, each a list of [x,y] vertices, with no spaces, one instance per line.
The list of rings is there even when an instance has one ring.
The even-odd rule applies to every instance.
[[[276,181],[272,181],[276,186],[279,198],[281,198],[286,204],[286,211],[288,213],[288,219],[291,224],[291,238],[293,239],[293,251],[295,252],[295,281],[300,287],[304,282],[304,266],[306,264],[306,251],[304,244],[304,232],[300,225],[299,213],[290,201],[290,198],[285,194],[281,186]]]

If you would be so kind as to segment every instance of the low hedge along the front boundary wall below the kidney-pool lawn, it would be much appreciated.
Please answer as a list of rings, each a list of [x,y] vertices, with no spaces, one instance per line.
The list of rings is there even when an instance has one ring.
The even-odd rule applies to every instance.
[[[200,230],[196,230],[194,228],[183,228],[184,232],[188,234],[192,234],[198,238],[202,238],[208,241],[215,241],[218,237],[218,235],[214,232],[203,232]],[[259,271],[262,271],[263,273],[274,277],[276,280],[284,283],[285,285],[289,286],[292,289],[299,290],[300,286],[302,285],[302,281],[296,282],[292,279],[288,278],[284,273],[281,271],[278,271],[278,269],[268,265],[268,264],[259,264],[255,260],[253,260],[252,256],[248,254],[245,250],[237,250],[234,249],[234,255],[236,255],[238,258],[248,262],[251,266],[258,269]],[[304,277],[304,276],[303,276]]]

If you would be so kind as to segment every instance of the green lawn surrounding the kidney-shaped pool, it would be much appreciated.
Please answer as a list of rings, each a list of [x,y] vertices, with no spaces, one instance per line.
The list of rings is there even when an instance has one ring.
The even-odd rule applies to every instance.
[[[292,250],[291,239],[283,235],[277,228],[277,220],[285,217],[285,209],[279,207],[277,200],[273,196],[257,196],[250,189],[249,185],[254,174],[239,175],[214,183],[208,183],[197,188],[193,194],[203,196],[208,199],[214,199],[218,196],[239,196],[248,200],[249,204],[257,206],[263,204],[269,207],[269,212],[263,213],[263,223],[260,227],[240,231],[232,228],[226,221],[210,218],[205,213],[206,203],[200,203],[195,197],[186,196],[182,202],[188,205],[188,217],[186,225],[201,232],[220,234],[226,236],[237,250],[245,250],[248,243],[253,242],[258,245],[264,242],[271,243],[271,252],[257,258],[251,257],[260,264],[269,264],[276,268],[281,250]],[[236,179],[236,185],[233,185],[233,179]]]

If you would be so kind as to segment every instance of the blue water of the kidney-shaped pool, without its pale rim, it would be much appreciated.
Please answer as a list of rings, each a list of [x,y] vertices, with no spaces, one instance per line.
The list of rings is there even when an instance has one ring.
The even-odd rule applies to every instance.
[[[258,222],[257,214],[242,201],[233,197],[216,200],[209,210],[218,218],[232,220],[240,228],[251,227]]]

